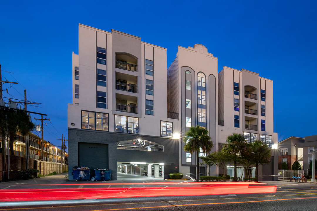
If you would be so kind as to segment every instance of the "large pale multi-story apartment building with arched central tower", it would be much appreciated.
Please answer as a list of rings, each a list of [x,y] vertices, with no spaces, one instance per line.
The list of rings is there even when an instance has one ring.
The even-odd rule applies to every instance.
[[[277,144],[273,82],[247,70],[224,67],[218,73],[217,58],[201,44],[178,47],[166,70],[165,48],[79,24],[78,53],[68,104],[70,169],[107,168],[112,179],[116,172],[151,176],[151,169],[155,177],[160,171],[165,178],[195,174],[196,156],[183,150],[184,134],[194,125],[210,131],[213,151],[232,133]],[[272,180],[274,164],[273,158],[260,168],[259,179]]]

